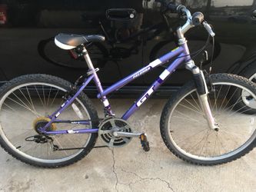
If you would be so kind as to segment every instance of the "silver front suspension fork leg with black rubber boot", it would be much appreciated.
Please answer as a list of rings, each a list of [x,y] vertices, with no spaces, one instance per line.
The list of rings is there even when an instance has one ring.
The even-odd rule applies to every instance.
[[[204,73],[196,65],[190,68],[190,70],[193,73],[194,84],[195,84],[195,87],[197,88],[198,100],[201,104],[202,110],[204,111],[204,117],[208,121],[209,127],[214,131],[218,131],[219,130],[218,124],[216,123],[211,113],[211,107],[208,99],[209,91],[204,78]]]

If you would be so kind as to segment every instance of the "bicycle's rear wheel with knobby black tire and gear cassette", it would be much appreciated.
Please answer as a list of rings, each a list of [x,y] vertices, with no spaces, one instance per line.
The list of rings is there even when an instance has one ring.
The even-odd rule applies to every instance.
[[[50,121],[48,115],[60,107],[70,88],[68,81],[46,74],[25,75],[3,85],[0,90],[0,144],[5,151],[38,167],[63,167],[85,157],[94,147],[97,134],[45,136],[38,131]],[[58,119],[82,119],[87,120],[88,125],[54,123],[48,131],[98,127],[98,114],[83,93]],[[32,141],[35,137],[40,142]],[[55,151],[54,145],[80,149]]]

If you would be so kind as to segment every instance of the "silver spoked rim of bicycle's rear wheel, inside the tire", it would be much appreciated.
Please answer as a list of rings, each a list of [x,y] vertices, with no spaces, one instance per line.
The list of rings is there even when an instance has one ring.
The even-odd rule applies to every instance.
[[[41,90],[39,90],[40,86],[42,87]],[[34,89],[32,89],[33,87]],[[32,93],[32,90],[33,90],[33,93]],[[48,92],[44,90],[48,90]],[[28,94],[25,94],[25,92],[27,91],[28,91]],[[44,96],[42,96],[42,93]],[[48,93],[48,96],[47,96],[47,93]],[[41,162],[41,163],[60,163],[63,161],[68,161],[71,158],[80,154],[81,151],[83,151],[81,149],[76,151],[68,151],[68,152],[67,151],[53,152],[51,151],[52,149],[50,148],[52,146],[49,143],[35,144],[35,142],[24,140],[23,142],[25,144],[22,145],[22,140],[23,140],[22,137],[25,139],[25,137],[37,134],[36,131],[33,129],[31,130],[32,127],[28,127],[28,125],[32,124],[33,119],[35,117],[39,115],[44,116],[42,114],[42,111],[46,109],[46,104],[48,104],[47,107],[49,107],[47,108],[49,114],[55,111],[58,108],[58,106],[60,106],[60,104],[62,103],[61,101],[62,99],[60,99],[60,97],[62,96],[62,94],[65,94],[65,93],[66,93],[66,90],[64,88],[61,88],[55,84],[39,83],[39,82],[21,84],[15,88],[12,88],[10,91],[8,91],[0,100],[0,121],[1,121],[0,134],[2,136],[2,139],[5,141],[5,144],[7,144],[8,147],[12,149],[12,151],[15,151],[15,153],[21,155],[22,157],[25,157],[32,161]],[[37,101],[34,98],[35,97],[34,94],[38,94],[39,96]],[[27,96],[26,99],[24,95]],[[42,96],[42,98],[40,98],[40,96]],[[13,104],[13,106],[11,104]],[[75,100],[74,104],[77,104],[77,106],[79,106],[83,114],[86,115],[85,118],[86,117],[89,118],[88,111],[86,110],[85,106],[82,104],[82,102],[78,98]],[[40,107],[40,105],[42,106],[44,105],[44,106]],[[15,113],[15,111],[18,113]],[[68,111],[68,112],[67,113],[63,112],[63,114],[61,114],[59,118],[75,117],[75,111],[72,112],[71,107],[67,108],[65,111]],[[12,116],[10,114],[12,114]],[[11,124],[11,122],[13,122],[15,119],[16,120],[18,119],[18,121],[21,121],[22,123],[16,124],[15,122],[15,126],[13,126],[14,123]],[[78,119],[74,119],[74,120],[78,120]],[[7,128],[5,129],[5,127],[8,127],[9,130]],[[22,128],[18,129],[17,127],[22,127]],[[62,126],[62,127],[63,129],[69,129],[69,128],[66,128],[66,126]],[[77,127],[79,128],[79,126]],[[89,127],[91,127],[91,123]],[[57,144],[59,147],[67,147],[67,144],[73,145],[71,147],[74,147],[74,145],[76,144],[82,144],[81,146],[76,146],[76,147],[86,147],[91,138],[91,134],[86,135],[87,139],[85,139],[85,137],[78,137],[77,135],[75,136],[75,134],[73,134],[72,137],[68,137],[69,135],[71,134],[56,135],[52,137],[54,138],[55,144]],[[77,138],[74,139],[74,136]],[[13,137],[15,137],[15,139]],[[21,137],[21,138],[18,138],[18,137]],[[14,143],[13,140],[17,141],[18,143],[17,144]],[[65,144],[63,141],[65,141],[67,144]],[[38,149],[39,152],[35,151],[35,149]]]

